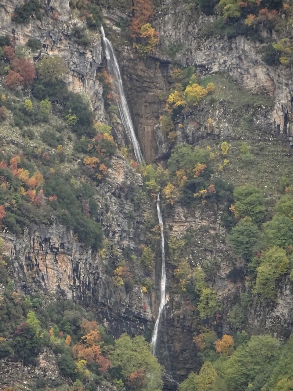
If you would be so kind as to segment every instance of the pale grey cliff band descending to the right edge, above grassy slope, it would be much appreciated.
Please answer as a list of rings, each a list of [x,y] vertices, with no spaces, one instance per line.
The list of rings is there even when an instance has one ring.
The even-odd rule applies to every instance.
[[[293,80],[289,68],[264,64],[259,44],[249,38],[239,36],[227,40],[200,36],[204,23],[211,21],[212,17],[187,11],[182,1],[160,0],[157,3],[154,25],[160,32],[161,52],[166,53],[166,48],[180,45],[173,61],[184,66],[197,66],[209,73],[224,71],[252,92],[267,91],[275,102],[270,122],[291,142],[292,128],[288,116],[292,113]],[[269,33],[264,31],[263,34]],[[170,59],[168,54],[161,56]]]

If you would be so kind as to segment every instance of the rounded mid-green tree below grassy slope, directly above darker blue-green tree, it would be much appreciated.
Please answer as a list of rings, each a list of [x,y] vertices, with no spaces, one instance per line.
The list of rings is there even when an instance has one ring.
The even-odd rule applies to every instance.
[[[234,190],[235,215],[236,217],[248,216],[255,224],[258,224],[266,214],[264,196],[253,185],[236,187]]]

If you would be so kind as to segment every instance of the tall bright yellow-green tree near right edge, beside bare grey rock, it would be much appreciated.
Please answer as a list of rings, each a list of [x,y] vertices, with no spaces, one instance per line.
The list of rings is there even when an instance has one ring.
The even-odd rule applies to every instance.
[[[289,267],[286,251],[274,246],[261,255],[261,264],[257,267],[254,292],[263,298],[273,299],[276,295],[275,282]]]

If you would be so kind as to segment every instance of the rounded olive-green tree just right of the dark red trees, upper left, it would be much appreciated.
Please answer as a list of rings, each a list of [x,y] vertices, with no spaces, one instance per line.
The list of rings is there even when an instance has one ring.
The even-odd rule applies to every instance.
[[[46,55],[36,64],[36,68],[43,82],[56,83],[59,79],[63,79],[67,72],[65,61],[59,56]]]

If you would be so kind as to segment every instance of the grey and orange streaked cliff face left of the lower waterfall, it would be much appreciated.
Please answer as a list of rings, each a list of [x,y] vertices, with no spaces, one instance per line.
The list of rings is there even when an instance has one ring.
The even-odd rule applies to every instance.
[[[118,259],[126,246],[139,247],[141,238],[136,232],[143,224],[143,215],[150,210],[147,204],[137,209],[125,198],[130,185],[141,186],[141,177],[129,170],[124,158],[116,156],[110,178],[98,189],[98,196],[100,221]],[[129,212],[134,209],[132,219]],[[31,226],[22,238],[5,232],[1,237],[4,254],[13,261],[17,291],[41,291],[51,300],[60,296],[95,305],[100,319],[105,320],[114,335],[138,334],[152,320],[148,296],[139,287],[130,292],[116,287],[111,274],[105,272],[107,265],[115,264],[115,256],[105,259],[99,252],[84,247],[65,227]]]

